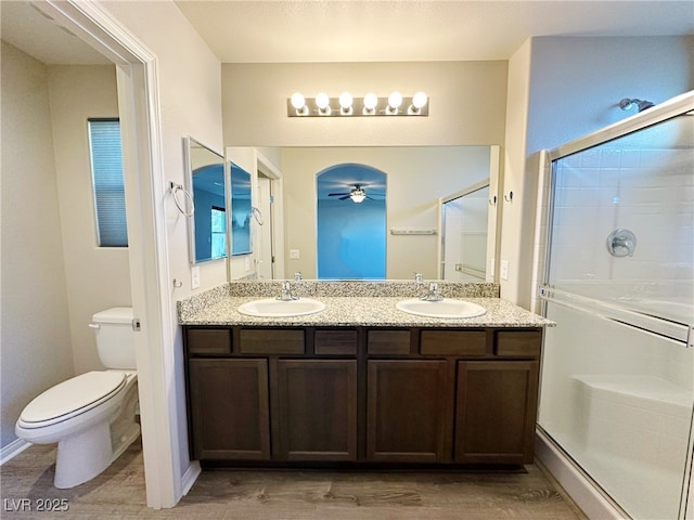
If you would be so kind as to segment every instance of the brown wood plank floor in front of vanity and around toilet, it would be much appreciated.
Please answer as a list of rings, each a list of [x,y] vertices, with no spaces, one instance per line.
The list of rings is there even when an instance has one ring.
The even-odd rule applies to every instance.
[[[54,445],[33,445],[0,468],[2,519],[586,519],[536,466],[516,473],[206,470],[175,508],[154,510],[138,442],[72,490],[53,487],[54,460]],[[68,510],[38,511],[47,499],[64,499]]]

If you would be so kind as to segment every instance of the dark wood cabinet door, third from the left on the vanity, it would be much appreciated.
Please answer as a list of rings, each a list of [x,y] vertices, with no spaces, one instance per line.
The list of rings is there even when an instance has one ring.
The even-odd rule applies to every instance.
[[[452,384],[445,361],[369,361],[370,460],[450,461]]]

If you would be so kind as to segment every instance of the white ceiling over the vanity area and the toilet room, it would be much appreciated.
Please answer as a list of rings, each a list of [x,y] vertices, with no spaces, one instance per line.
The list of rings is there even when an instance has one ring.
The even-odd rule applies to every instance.
[[[694,1],[239,1],[176,4],[223,63],[507,60],[530,36],[694,34]],[[26,1],[1,36],[48,64],[107,63]]]

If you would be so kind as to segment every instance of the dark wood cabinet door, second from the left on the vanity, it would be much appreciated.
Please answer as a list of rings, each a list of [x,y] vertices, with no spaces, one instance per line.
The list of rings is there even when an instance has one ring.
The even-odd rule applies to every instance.
[[[278,458],[357,459],[356,360],[280,360],[271,386]]]

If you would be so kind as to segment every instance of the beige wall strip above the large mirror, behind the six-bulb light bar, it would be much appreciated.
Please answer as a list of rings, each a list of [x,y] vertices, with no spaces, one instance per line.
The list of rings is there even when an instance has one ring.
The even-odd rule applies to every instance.
[[[372,146],[501,144],[506,62],[222,64],[227,146]],[[355,96],[393,90],[429,95],[423,118],[296,118],[294,92]]]

